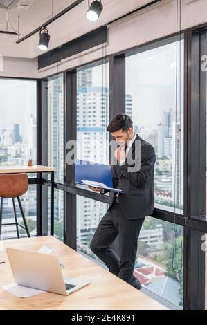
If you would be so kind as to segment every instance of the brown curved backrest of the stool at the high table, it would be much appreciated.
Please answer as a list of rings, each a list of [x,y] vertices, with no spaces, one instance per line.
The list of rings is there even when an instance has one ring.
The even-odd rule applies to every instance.
[[[0,174],[0,197],[16,198],[28,190],[27,174]]]

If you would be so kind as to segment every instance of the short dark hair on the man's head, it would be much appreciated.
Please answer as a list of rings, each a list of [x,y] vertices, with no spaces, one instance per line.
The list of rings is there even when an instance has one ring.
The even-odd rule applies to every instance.
[[[133,127],[132,118],[126,114],[118,114],[109,123],[107,131],[110,133],[116,132],[120,129],[122,129],[122,131],[127,131],[130,127]]]

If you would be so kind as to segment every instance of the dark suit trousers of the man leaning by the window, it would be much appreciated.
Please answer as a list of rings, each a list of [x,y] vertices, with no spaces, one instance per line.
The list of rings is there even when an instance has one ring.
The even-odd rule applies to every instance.
[[[90,248],[105,263],[109,272],[129,284],[134,277],[138,236],[145,218],[129,220],[123,216],[119,203],[113,205],[101,219],[93,235]],[[119,236],[118,236],[119,235]],[[119,256],[111,249],[111,243],[118,236]]]

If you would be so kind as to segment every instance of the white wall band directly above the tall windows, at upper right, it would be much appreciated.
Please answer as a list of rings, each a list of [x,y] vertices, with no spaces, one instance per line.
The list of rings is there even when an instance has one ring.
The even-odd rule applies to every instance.
[[[132,17],[127,17],[109,26],[108,44],[105,54],[117,53],[127,48],[145,44],[160,37],[170,35],[177,30],[183,30],[207,22],[206,0],[181,0],[181,26],[177,24],[177,0],[163,0],[150,8],[136,12]],[[178,25],[178,26],[177,26]],[[180,28],[181,27],[181,28]],[[50,68],[39,71],[39,77],[52,75],[80,64],[102,57],[102,47],[89,50],[64,60]]]

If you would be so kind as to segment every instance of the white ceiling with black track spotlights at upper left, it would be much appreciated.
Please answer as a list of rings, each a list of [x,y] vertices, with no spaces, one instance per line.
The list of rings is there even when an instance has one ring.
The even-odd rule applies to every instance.
[[[6,12],[8,6],[11,25],[17,30],[19,16],[19,32],[21,37],[35,28],[44,24],[52,15],[69,6],[75,0],[0,0],[0,30],[12,31],[6,24]],[[67,12],[65,15],[48,26],[51,41],[48,50],[60,46],[67,41],[75,39],[90,30],[96,29],[107,22],[124,15],[127,12],[139,8],[152,0],[102,0],[104,10],[98,21],[87,21],[85,13],[88,1]],[[52,6],[53,3],[53,6]],[[2,8],[3,7],[3,8]],[[7,29],[8,28],[8,29]],[[17,36],[0,34],[0,55],[8,57],[33,58],[42,54],[37,48],[39,34],[35,34],[21,44],[16,44]]]

